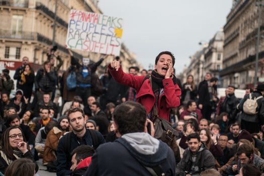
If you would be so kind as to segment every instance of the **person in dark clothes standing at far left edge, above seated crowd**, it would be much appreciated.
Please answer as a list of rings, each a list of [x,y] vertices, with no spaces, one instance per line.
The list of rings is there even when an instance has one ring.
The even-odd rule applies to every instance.
[[[0,92],[7,92],[9,96],[13,86],[14,81],[9,76],[9,69],[3,69],[0,75]]]

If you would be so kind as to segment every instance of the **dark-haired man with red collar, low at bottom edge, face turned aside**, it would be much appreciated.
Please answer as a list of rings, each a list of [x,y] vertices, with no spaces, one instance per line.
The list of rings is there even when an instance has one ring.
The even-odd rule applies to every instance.
[[[80,145],[73,150],[71,166],[71,170],[73,170],[72,176],[81,176],[85,173],[92,161],[94,152],[93,147],[89,145]]]

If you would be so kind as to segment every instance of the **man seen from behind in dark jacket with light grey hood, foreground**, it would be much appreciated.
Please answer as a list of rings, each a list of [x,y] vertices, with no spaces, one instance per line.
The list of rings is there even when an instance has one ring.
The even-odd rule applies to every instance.
[[[173,151],[147,133],[150,121],[141,104],[125,102],[117,106],[113,119],[119,138],[97,148],[85,176],[175,175]]]

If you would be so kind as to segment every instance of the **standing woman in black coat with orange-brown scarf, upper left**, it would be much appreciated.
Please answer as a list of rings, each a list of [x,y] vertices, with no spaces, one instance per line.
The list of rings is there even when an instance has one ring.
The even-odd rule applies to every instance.
[[[34,78],[35,78],[34,70],[31,68],[30,64],[26,64],[25,67],[23,68],[22,73],[20,74],[18,83],[20,85],[20,89],[24,93],[24,97],[29,99],[29,101],[32,95]]]

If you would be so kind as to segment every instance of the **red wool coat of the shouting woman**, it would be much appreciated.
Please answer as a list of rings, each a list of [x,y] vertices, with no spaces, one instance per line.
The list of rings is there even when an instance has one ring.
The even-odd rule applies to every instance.
[[[117,82],[133,87],[136,90],[136,101],[142,104],[145,107],[147,114],[149,114],[155,104],[155,96],[150,85],[150,80],[146,79],[143,82],[145,76],[135,76],[124,73],[121,67],[116,71],[115,69],[112,69],[109,64],[108,68]],[[170,109],[180,105],[181,90],[177,84],[173,84],[171,78],[163,79],[162,82],[164,91],[160,95],[158,101],[158,115],[169,121]]]

